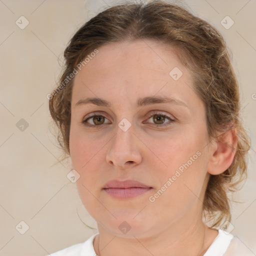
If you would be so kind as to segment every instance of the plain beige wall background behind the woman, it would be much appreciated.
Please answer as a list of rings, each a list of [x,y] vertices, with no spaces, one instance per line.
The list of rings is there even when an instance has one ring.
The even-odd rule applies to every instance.
[[[109,4],[110,1],[106,1]],[[194,14],[214,24],[233,52],[241,85],[243,115],[252,138],[249,174],[233,204],[232,225],[256,255],[256,2],[254,0],[186,0]],[[51,132],[46,98],[58,78],[63,50],[88,18],[101,10],[100,0],[0,0],[0,255],[43,256],[82,242],[95,233],[75,184],[66,175],[68,162]],[[29,24],[20,29],[15,21]],[[220,21],[230,16],[225,29]],[[22,19],[22,24],[25,21]],[[21,24],[19,24],[21,25]],[[254,99],[253,99],[254,98]],[[28,127],[16,123],[23,118]],[[20,122],[22,122],[21,120]],[[22,124],[22,123],[21,123]],[[19,123],[19,125],[21,125]],[[29,229],[24,231],[25,221]],[[17,226],[17,228],[15,228]]]

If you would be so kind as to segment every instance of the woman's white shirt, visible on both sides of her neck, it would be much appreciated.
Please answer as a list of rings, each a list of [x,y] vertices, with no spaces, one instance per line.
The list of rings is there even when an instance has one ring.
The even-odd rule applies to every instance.
[[[96,256],[93,239],[98,233],[85,242],[77,243],[65,249],[51,253],[51,256]],[[255,254],[239,238],[218,229],[218,235],[203,256],[254,256]]]

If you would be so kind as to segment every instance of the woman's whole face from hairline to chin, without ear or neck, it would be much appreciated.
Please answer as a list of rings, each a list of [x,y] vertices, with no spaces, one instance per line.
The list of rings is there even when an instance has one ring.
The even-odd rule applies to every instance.
[[[192,87],[173,48],[152,40],[101,46],[75,75],[72,167],[81,201],[108,232],[139,237],[201,217],[209,150]]]

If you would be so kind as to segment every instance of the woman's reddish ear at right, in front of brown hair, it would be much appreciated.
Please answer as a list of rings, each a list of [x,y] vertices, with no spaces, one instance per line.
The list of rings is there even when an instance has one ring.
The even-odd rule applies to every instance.
[[[212,143],[207,171],[212,175],[224,172],[232,163],[237,146],[236,129],[217,136]]]

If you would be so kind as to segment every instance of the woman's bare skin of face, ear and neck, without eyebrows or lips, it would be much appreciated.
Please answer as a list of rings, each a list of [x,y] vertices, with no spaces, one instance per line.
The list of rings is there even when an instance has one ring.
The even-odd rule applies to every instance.
[[[98,50],[74,78],[69,140],[72,167],[80,174],[76,184],[81,201],[98,225],[95,252],[101,256],[124,251],[126,256],[203,254],[217,236],[217,230],[201,218],[209,173],[228,168],[235,152],[224,143],[209,143],[204,104],[173,48],[136,40],[108,43]],[[183,73],[176,81],[169,75],[174,67]],[[173,103],[137,107],[137,99],[146,96],[173,97],[187,107]],[[102,98],[111,106],[75,105],[87,97]],[[174,121],[163,117],[162,124],[155,122],[151,116],[156,110]],[[96,125],[87,119],[89,113],[104,119]],[[131,124],[127,131],[118,126],[123,118]],[[235,146],[234,132],[225,138]],[[196,151],[200,156],[150,202],[149,196]],[[112,179],[134,179],[152,189],[130,199],[113,198],[102,190]],[[118,228],[123,221],[131,227],[126,234]]]

